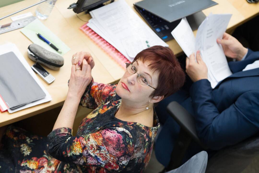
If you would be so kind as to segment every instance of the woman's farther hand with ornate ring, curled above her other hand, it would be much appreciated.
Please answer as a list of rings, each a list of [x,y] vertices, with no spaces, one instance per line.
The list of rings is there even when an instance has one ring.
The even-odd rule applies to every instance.
[[[95,66],[95,61],[89,52],[77,52],[72,56],[72,65],[78,64],[82,69],[83,59],[91,66],[91,69]]]

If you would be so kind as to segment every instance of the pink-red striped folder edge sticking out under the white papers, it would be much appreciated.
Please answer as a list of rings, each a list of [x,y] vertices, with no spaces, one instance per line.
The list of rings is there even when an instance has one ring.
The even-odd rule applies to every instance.
[[[88,22],[87,22],[88,23]],[[115,47],[108,43],[105,39],[94,32],[85,23],[80,29],[91,38],[99,47],[101,47],[111,58],[113,58],[121,67],[126,68],[125,63],[131,63],[123,54],[121,54]]]

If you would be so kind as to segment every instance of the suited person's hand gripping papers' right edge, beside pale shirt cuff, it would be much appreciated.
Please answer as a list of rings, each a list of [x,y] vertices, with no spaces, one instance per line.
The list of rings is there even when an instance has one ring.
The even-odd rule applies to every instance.
[[[238,61],[240,61],[248,51],[235,37],[226,32],[223,34],[222,39],[217,39],[217,43],[222,45],[227,57],[234,58]]]

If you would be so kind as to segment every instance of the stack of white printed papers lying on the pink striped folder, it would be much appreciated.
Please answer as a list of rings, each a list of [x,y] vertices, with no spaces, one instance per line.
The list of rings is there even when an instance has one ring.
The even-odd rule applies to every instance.
[[[154,45],[168,46],[150,29],[124,0],[90,12],[87,26],[104,38],[128,60]]]

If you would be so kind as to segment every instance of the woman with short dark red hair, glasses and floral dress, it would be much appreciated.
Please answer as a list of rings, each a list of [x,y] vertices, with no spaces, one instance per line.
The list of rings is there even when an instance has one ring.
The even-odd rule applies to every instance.
[[[0,171],[1,167],[20,172],[144,171],[160,126],[154,104],[183,86],[184,71],[172,50],[163,46],[145,49],[126,63],[117,85],[94,82],[93,66],[89,53],[73,55],[67,98],[49,143],[19,128],[7,129],[3,147],[14,159],[8,152],[0,153]],[[78,105],[94,110],[72,136]]]

